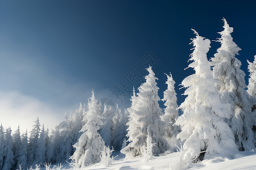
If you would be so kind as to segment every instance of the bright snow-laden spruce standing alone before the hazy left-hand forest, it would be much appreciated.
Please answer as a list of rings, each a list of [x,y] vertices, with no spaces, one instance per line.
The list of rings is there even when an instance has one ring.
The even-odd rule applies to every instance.
[[[88,111],[83,120],[86,124],[81,129],[83,133],[74,145],[76,151],[71,156],[76,167],[84,167],[100,162],[100,152],[108,149],[98,133],[103,125],[101,114],[101,104],[95,99],[92,91],[92,97],[88,100]]]

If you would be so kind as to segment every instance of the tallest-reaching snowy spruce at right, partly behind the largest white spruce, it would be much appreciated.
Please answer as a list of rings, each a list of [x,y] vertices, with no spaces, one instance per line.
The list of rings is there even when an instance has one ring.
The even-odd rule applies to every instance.
[[[233,28],[224,20],[224,31],[220,32],[218,41],[221,47],[212,58],[213,77],[220,84],[223,103],[232,105],[232,114],[226,120],[232,129],[236,144],[241,151],[250,151],[254,147],[253,114],[251,114],[250,95],[245,90],[245,73],[240,69],[241,62],[236,58],[241,49],[233,42],[230,33]]]

